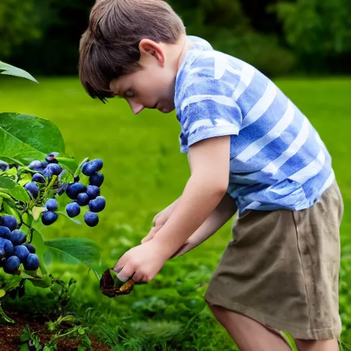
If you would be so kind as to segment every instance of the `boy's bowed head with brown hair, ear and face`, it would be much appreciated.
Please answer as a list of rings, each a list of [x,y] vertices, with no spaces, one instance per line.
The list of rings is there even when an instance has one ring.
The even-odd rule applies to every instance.
[[[162,0],[97,0],[80,41],[80,80],[90,97],[124,97],[134,113],[174,109],[182,20]]]

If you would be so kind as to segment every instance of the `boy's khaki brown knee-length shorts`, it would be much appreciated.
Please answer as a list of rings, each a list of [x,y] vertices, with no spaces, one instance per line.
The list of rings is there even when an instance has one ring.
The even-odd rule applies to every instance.
[[[205,299],[295,339],[333,339],[339,317],[339,226],[335,182],[306,210],[250,210],[230,241]]]

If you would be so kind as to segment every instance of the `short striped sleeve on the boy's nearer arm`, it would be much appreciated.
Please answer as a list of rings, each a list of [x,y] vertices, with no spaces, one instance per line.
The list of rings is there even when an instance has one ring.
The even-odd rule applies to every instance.
[[[223,70],[225,71],[225,70]],[[206,138],[238,135],[242,123],[241,109],[232,97],[236,80],[223,73],[218,78],[209,69],[197,70],[184,84],[178,119],[182,128],[180,151]]]

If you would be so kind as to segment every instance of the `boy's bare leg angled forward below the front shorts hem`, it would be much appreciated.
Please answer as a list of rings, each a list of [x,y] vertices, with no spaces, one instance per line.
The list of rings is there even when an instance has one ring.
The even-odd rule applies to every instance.
[[[280,335],[254,319],[208,303],[218,322],[226,328],[241,351],[291,351]]]

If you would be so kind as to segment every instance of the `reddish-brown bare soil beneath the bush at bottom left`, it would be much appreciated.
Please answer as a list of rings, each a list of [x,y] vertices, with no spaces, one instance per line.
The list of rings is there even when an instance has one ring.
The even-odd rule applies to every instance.
[[[31,332],[38,331],[36,336],[40,340],[40,345],[44,346],[51,339],[51,333],[45,327],[45,322],[49,322],[49,316],[46,315],[26,315],[18,312],[5,312],[8,317],[14,319],[16,324],[0,324],[0,350],[1,351],[18,351],[21,348],[19,337],[22,334],[23,327],[28,324]],[[95,337],[90,336],[91,348],[94,351],[110,351],[108,346],[98,341]],[[77,351],[79,339],[60,338],[57,340],[58,351]]]

